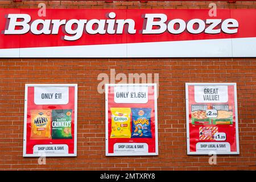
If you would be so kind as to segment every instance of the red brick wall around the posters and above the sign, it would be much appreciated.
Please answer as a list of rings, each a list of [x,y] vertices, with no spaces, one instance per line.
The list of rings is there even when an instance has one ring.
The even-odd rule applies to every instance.
[[[42,1],[40,1],[42,2]],[[205,2],[44,1],[52,8],[207,8]],[[34,1],[0,1],[0,7],[35,7]],[[191,4],[190,4],[191,3]],[[222,8],[255,8],[255,2]],[[99,73],[159,73],[159,156],[105,157],[105,95]],[[187,155],[185,82],[237,82],[240,155]],[[24,84],[77,83],[77,157],[23,158]],[[256,59],[0,59],[0,169],[226,170],[256,169]]]

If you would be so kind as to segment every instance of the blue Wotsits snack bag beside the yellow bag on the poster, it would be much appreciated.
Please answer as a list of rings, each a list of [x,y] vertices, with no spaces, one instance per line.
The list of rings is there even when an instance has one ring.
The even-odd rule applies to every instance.
[[[151,108],[131,108],[133,113],[131,138],[152,138]]]

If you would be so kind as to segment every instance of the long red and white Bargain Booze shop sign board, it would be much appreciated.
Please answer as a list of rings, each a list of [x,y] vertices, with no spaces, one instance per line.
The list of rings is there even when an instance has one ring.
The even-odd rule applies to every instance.
[[[0,57],[255,57],[256,10],[0,9]]]

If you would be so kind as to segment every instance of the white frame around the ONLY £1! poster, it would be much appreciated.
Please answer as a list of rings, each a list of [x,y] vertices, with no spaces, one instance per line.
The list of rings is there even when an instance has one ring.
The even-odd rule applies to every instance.
[[[23,157],[40,157],[36,154],[26,154],[27,147],[27,90],[28,86],[68,86],[75,87],[75,116],[74,116],[74,154],[47,154],[46,157],[64,157],[64,156],[77,156],[77,84],[25,84],[25,99],[24,99],[24,126],[23,126]]]

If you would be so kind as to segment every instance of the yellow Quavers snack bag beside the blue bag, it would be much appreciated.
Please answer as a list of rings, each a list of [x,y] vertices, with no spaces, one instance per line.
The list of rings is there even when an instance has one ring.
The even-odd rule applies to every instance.
[[[126,107],[112,107],[110,111],[110,138],[131,138],[131,109]]]

